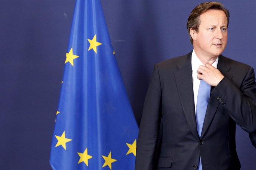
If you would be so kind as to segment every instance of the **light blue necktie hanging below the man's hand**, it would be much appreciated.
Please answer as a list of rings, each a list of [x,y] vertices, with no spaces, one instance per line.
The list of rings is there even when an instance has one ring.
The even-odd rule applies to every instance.
[[[210,93],[211,93],[211,86],[207,82],[201,80],[199,89],[198,89],[197,104],[196,104],[196,123],[197,123],[197,132],[199,137],[201,136],[201,132],[204,124],[204,117],[206,114],[206,109],[207,109],[208,101],[210,98]],[[202,170],[201,157],[198,163],[198,170]]]

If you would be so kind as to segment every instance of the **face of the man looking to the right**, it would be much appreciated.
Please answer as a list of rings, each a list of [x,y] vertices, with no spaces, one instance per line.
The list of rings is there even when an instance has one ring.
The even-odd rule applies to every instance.
[[[217,57],[227,45],[227,17],[221,10],[208,10],[200,16],[193,46],[201,57]]]

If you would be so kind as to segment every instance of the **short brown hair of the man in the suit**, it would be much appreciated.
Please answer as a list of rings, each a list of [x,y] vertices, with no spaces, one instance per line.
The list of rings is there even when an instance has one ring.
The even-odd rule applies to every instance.
[[[219,2],[204,2],[196,6],[193,11],[190,13],[187,22],[187,30],[190,36],[190,42],[193,44],[193,39],[190,35],[190,28],[198,32],[198,27],[200,25],[200,16],[208,10],[221,10],[226,14],[227,17],[227,26],[229,26],[229,10],[224,8],[224,5]]]

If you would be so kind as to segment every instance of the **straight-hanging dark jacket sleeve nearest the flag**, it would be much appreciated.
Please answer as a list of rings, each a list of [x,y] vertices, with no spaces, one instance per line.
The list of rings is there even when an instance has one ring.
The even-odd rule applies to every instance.
[[[161,121],[161,84],[157,65],[151,75],[138,135],[135,170],[155,169],[157,137]]]

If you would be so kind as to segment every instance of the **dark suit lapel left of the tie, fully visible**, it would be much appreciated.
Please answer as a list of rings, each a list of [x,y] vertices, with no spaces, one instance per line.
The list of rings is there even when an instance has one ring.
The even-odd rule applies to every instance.
[[[174,76],[187,124],[193,136],[199,139],[195,116],[191,54],[192,52],[180,60],[177,64],[179,70]]]

